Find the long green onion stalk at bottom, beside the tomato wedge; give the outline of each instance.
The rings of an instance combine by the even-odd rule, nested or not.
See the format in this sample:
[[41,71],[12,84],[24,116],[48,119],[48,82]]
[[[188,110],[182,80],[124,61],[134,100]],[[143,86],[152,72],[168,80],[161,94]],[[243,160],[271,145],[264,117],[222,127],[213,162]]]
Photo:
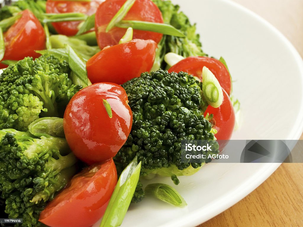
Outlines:
[[135,157],[122,171],[100,227],[117,227],[122,224],[140,176],[141,162],[138,165],[137,163],[137,157]]

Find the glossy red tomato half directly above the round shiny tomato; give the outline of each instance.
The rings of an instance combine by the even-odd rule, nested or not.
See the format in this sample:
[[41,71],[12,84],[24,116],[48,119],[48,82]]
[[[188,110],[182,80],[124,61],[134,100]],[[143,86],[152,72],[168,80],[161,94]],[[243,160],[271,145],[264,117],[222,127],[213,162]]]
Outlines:
[[105,48],[87,61],[88,78],[92,83],[123,84],[139,77],[151,70],[156,48],[155,41],[142,39]]

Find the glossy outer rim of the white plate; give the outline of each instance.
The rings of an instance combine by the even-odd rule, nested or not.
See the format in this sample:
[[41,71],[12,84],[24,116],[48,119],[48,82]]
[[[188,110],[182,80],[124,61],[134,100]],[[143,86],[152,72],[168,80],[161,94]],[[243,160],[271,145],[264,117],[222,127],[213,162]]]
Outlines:
[[[277,28],[275,28],[271,23],[269,23],[267,20],[262,18],[257,13],[251,11],[250,9],[244,7],[243,5],[240,5],[237,2],[233,2],[231,0],[218,0],[219,2],[224,2],[232,7],[237,8],[240,11],[245,12],[250,17],[256,19],[259,23],[265,25],[268,29],[270,29],[275,35],[283,41],[283,43],[288,47],[288,50],[291,52],[291,54],[294,56],[294,59],[296,60],[296,64],[298,65],[301,74],[301,84],[303,87],[303,60],[301,58],[301,55],[298,53],[297,49],[294,47],[294,45],[279,31]],[[303,97],[303,90],[301,92],[301,97]],[[300,105],[303,107],[303,98],[301,100]],[[303,116],[303,109],[301,108],[301,111],[299,111],[298,116]],[[303,117],[298,117],[294,123],[294,127],[291,130],[291,133],[287,136],[287,140],[298,140],[303,132]],[[242,163],[245,164],[245,163]],[[250,164],[250,163],[247,163]],[[281,165],[281,163],[262,163],[262,168],[259,169],[258,172],[255,172],[255,174],[251,175],[248,179],[246,179],[243,183],[241,183],[240,187],[238,187],[236,192],[241,192],[236,194],[236,192],[229,192],[227,194],[224,194],[224,198],[229,198],[228,200],[224,200],[221,196],[221,198],[218,198],[208,204],[207,206],[207,212],[204,212],[206,208],[200,208],[196,209],[195,211],[192,211],[189,214],[186,214],[178,219],[175,219],[170,222],[166,222],[165,224],[158,225],[157,227],[195,227],[197,225],[201,225],[202,223],[208,221],[209,219],[215,217],[216,215],[220,214],[221,212],[224,212],[226,209],[230,208],[231,206],[235,205],[237,202],[239,202],[241,199],[246,197],[248,194],[250,194],[253,190],[255,190],[258,186],[260,186],[266,179],[268,179],[269,176],[271,176],[272,173],[275,172],[276,169]],[[249,187],[247,187],[249,185]],[[214,209],[209,209],[209,207],[214,207]]]

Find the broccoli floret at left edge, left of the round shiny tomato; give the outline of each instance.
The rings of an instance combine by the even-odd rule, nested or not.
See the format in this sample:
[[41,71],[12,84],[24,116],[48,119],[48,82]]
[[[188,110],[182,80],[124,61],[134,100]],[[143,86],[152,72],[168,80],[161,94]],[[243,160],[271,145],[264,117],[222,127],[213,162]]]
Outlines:
[[81,89],[68,77],[66,61],[54,56],[24,58],[0,76],[0,129],[26,131],[34,120],[58,117]]

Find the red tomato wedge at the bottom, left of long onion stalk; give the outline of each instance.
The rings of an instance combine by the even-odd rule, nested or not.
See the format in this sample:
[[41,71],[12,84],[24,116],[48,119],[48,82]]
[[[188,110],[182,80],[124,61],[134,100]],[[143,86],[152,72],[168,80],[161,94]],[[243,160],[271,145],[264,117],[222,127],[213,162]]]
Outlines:
[[103,216],[116,184],[112,159],[89,166],[48,203],[39,221],[51,227],[92,226]]

